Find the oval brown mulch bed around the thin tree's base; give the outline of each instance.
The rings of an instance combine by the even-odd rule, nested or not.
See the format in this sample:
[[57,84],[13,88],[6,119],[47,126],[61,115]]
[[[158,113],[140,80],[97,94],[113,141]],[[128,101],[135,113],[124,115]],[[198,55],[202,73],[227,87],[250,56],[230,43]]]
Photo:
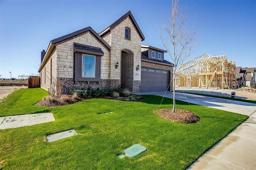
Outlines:
[[172,112],[172,109],[159,109],[156,114],[171,122],[197,123],[200,120],[194,113],[182,109],[176,109],[175,113]]

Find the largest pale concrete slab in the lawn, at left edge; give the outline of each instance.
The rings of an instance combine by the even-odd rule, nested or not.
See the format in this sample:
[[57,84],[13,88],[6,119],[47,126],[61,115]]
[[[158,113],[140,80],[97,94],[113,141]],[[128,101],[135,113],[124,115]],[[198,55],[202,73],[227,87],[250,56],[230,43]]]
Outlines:
[[20,128],[55,121],[51,113],[6,116],[0,118],[0,130]]

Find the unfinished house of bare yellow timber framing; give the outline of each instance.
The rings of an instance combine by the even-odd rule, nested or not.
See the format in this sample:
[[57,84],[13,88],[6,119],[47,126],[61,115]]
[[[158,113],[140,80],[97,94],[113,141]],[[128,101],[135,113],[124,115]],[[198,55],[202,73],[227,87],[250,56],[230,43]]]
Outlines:
[[227,55],[204,54],[181,65],[177,70],[176,87],[236,88],[236,64]]

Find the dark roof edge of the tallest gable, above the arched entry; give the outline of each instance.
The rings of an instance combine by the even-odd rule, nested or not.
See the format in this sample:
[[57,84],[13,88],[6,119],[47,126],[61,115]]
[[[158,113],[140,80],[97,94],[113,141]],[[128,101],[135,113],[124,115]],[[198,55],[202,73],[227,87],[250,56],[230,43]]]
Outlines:
[[138,25],[138,23],[135,21],[131,11],[128,11],[126,14],[124,14],[123,16],[121,16],[121,18],[119,18],[118,20],[116,20],[113,24],[109,25],[109,27],[107,27],[105,30],[101,31],[99,33],[99,35],[102,37],[104,36],[106,33],[108,33],[111,29],[115,28],[116,25],[118,25],[122,20],[124,20],[127,16],[129,16],[135,26],[135,29],[137,29],[140,37],[141,37],[141,41],[145,40],[145,37],[142,33],[142,31],[140,30],[140,27]]

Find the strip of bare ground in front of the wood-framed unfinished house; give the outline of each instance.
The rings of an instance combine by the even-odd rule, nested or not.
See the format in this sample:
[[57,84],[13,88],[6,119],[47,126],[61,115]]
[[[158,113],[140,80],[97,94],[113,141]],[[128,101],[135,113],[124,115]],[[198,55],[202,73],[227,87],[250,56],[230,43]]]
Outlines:
[[255,92],[237,91],[236,89],[199,89],[199,88],[176,88],[180,92],[193,92],[196,94],[215,95],[223,97],[231,97],[231,92],[236,92],[236,98],[256,100]]

